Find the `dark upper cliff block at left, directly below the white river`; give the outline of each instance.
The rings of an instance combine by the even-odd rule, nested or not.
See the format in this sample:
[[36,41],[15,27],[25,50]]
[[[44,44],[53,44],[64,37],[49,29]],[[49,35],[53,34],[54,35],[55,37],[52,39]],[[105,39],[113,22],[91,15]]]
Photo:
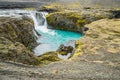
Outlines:
[[20,42],[29,49],[37,44],[33,30],[33,21],[27,17],[0,18],[0,37],[5,37],[12,42]]

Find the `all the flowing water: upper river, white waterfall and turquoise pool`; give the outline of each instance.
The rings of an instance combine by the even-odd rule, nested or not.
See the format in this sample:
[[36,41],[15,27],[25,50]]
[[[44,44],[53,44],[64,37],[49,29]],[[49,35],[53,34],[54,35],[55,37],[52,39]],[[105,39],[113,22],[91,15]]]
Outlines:
[[33,19],[34,27],[37,33],[40,34],[37,37],[39,45],[34,48],[35,55],[41,55],[48,51],[56,51],[61,44],[74,46],[73,40],[79,39],[82,35],[80,33],[53,30],[48,29],[46,12],[38,12],[32,10],[0,10],[0,16],[2,17],[21,17],[28,16]]

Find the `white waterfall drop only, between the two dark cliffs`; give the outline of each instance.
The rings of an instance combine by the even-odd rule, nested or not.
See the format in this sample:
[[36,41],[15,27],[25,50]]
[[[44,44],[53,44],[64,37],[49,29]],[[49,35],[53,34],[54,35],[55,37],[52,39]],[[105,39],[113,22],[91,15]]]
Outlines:
[[35,29],[37,31],[41,31],[42,33],[47,33],[50,35],[54,35],[54,30],[48,29],[48,24],[46,20],[47,12],[36,12],[34,15],[32,15],[34,23],[35,23]]

